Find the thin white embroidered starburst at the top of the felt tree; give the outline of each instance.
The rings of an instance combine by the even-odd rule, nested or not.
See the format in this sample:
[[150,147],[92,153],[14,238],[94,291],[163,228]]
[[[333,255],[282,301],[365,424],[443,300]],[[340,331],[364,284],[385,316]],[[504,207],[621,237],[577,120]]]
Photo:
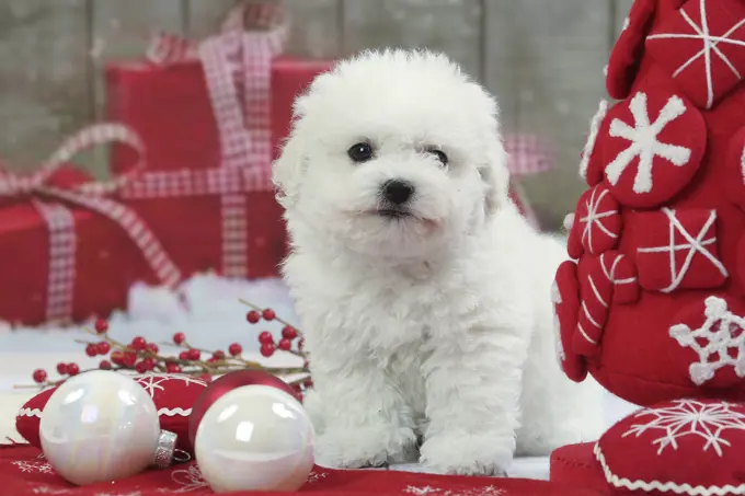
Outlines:
[[740,30],[743,24],[745,24],[745,19],[738,20],[721,36],[712,36],[709,28],[707,0],[699,0],[699,11],[701,13],[701,25],[696,24],[696,22],[690,19],[690,15],[688,15],[685,10],[680,10],[683,19],[686,21],[686,24],[690,26],[692,33],[660,33],[650,35],[646,37],[646,39],[699,39],[701,42],[701,49],[694,54],[694,56],[688,60],[683,62],[680,67],[678,67],[675,72],[673,72],[673,78],[678,77],[683,71],[691,67],[699,58],[703,58],[704,79],[707,85],[707,108],[711,108],[711,106],[714,104],[714,78],[712,69],[712,60],[714,57],[722,61],[724,66],[726,66],[730,71],[732,71],[735,78],[738,80],[743,79],[743,76],[740,73],[740,71],[737,71],[730,58],[724,55],[718,45],[721,43],[723,45],[745,47],[745,42],[730,37],[737,30]]

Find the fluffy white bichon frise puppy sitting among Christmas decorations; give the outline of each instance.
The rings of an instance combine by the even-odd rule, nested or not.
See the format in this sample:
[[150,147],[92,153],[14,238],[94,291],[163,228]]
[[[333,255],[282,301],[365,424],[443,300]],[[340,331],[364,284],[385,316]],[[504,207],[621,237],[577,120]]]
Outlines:
[[274,164],[319,431],[333,466],[502,474],[603,429],[554,354],[564,249],[508,200],[495,101],[429,51],[367,51],[295,103]]

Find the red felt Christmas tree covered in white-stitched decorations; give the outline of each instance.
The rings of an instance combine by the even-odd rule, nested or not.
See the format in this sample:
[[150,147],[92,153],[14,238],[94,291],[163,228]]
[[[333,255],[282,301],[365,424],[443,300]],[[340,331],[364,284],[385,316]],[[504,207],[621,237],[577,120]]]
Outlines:
[[[637,0],[610,58],[609,92],[626,100],[598,126],[593,154],[605,169],[592,186],[610,192],[620,222],[615,212],[598,217],[614,210],[608,201],[595,214],[578,205],[570,254],[578,256],[580,279],[562,266],[558,284],[572,302],[597,304],[557,309],[562,337],[582,333],[587,311],[600,312],[592,314],[599,324],[594,353],[562,338],[572,357],[568,376],[582,377],[586,366],[605,388],[640,405],[745,400],[745,369],[737,365],[745,360],[745,83],[733,80],[745,74],[744,16],[745,4],[735,0]],[[711,53],[699,33],[707,30],[715,37]],[[607,300],[589,280],[597,270],[583,269],[603,255],[623,256],[626,276],[614,279],[637,277],[639,287],[624,288],[620,300]]]

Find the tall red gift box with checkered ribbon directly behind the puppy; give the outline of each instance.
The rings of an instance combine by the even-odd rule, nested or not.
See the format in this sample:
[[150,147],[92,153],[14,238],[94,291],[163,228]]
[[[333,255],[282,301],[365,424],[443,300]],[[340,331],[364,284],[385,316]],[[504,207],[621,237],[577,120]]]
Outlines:
[[[286,234],[271,183],[270,72],[285,37],[277,5],[241,4],[215,36],[161,35],[147,62],[106,68],[110,118],[136,129],[148,150],[148,171],[121,198],[184,276],[278,273]],[[115,174],[127,172],[129,153],[113,148]]]

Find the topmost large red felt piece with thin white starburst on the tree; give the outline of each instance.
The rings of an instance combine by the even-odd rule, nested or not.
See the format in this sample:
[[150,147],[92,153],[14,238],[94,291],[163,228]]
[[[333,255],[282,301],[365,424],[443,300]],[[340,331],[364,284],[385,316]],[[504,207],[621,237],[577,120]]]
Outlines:
[[713,107],[745,74],[745,3],[689,0],[646,37],[646,50],[700,108]]

